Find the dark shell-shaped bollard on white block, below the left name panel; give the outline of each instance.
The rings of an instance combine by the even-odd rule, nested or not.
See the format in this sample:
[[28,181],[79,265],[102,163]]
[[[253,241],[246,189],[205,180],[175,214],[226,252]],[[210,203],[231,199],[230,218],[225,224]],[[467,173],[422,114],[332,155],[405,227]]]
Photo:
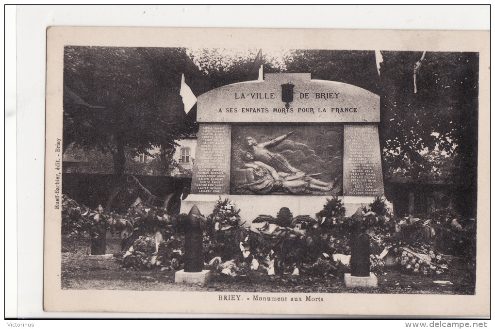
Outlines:
[[203,270],[203,232],[200,217],[201,212],[193,205],[184,225],[184,270],[175,272],[175,282],[204,283],[209,280],[210,271]]

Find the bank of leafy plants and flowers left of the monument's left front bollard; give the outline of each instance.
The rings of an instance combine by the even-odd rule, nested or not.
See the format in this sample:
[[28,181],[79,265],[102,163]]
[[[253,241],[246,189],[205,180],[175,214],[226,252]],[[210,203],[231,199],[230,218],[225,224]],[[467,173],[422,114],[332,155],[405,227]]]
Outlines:
[[[117,215],[103,210],[81,207],[66,195],[62,196],[62,232],[83,230],[91,232],[93,237],[107,230],[118,233],[122,239],[122,249],[129,250],[123,258],[123,266],[134,269],[177,270],[182,266],[183,238],[179,234],[178,223],[181,216],[169,216],[161,207],[155,207],[138,199],[128,212]],[[71,231],[72,230],[72,231]]]

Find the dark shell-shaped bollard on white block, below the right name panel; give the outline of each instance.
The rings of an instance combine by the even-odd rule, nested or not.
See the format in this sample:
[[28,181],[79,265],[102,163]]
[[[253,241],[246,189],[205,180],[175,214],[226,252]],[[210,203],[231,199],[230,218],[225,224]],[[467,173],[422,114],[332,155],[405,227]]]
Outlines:
[[376,287],[377,277],[370,272],[370,237],[364,233],[360,222],[350,240],[350,274],[346,273],[344,282],[348,287]]

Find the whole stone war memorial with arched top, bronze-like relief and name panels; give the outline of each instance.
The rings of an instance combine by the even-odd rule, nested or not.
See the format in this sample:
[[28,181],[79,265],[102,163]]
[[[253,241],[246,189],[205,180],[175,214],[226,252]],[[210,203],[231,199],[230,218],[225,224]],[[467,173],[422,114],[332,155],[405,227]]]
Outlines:
[[309,73],[265,74],[198,96],[198,147],[181,212],[233,200],[250,223],[288,207],[320,211],[339,196],[346,216],[384,196],[380,96]]

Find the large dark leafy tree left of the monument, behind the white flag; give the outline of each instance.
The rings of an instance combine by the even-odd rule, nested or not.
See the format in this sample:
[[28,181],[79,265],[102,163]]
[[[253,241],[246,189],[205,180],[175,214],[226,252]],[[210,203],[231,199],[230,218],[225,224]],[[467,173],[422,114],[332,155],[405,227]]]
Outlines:
[[182,48],[65,47],[64,150],[74,142],[109,152],[114,174],[122,176],[126,155],[173,149],[180,135],[197,130],[179,95],[182,73],[195,94],[203,92],[201,74]]

